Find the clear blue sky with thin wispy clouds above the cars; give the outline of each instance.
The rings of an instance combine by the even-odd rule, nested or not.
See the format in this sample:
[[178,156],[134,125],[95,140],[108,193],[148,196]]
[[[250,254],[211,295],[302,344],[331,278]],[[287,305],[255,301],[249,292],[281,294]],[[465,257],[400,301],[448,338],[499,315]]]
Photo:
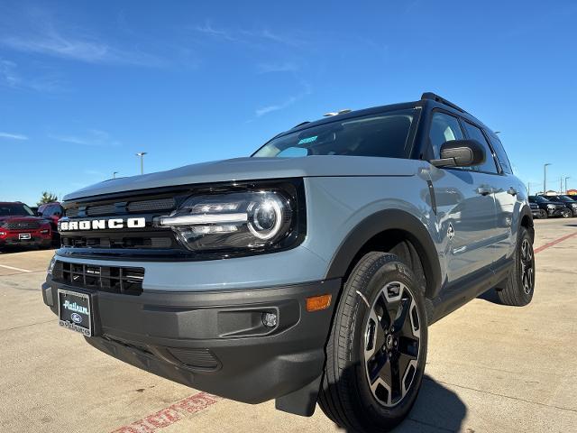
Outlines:
[[0,4],[0,199],[250,154],[327,111],[434,91],[518,176],[577,187],[577,4]]

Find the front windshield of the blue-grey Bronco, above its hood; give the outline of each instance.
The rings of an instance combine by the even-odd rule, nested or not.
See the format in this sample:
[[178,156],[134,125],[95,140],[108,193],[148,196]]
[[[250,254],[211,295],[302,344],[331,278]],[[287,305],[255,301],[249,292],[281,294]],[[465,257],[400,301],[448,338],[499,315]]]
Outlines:
[[311,155],[407,158],[407,139],[415,110],[365,115],[282,135],[253,157],[295,158]]

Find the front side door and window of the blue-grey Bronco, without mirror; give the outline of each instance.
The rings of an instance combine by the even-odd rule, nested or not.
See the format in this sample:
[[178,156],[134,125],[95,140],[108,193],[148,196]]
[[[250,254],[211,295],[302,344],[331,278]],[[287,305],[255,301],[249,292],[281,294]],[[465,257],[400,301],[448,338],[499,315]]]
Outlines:
[[[456,116],[435,110],[429,128],[431,153],[439,158],[441,144],[465,138]],[[491,154],[489,154],[489,157]],[[494,161],[493,161],[494,165]],[[490,269],[494,259],[496,209],[496,166],[487,168],[431,168],[435,189],[437,224],[444,234],[444,254],[449,283],[483,268]],[[446,234],[446,235],[445,235]]]

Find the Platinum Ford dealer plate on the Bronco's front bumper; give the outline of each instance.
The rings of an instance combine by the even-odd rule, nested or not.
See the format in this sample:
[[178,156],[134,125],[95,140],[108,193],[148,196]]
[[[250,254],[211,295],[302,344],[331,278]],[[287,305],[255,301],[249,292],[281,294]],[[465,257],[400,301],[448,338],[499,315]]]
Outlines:
[[58,290],[59,325],[84,336],[94,336],[93,301],[89,293]]

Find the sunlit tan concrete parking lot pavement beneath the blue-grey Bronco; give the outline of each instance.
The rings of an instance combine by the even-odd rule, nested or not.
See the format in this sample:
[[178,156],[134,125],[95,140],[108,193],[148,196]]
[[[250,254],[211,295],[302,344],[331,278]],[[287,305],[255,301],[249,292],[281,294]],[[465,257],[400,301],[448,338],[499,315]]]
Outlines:
[[[426,380],[398,431],[574,431],[577,218],[536,221],[528,307],[491,293],[430,328]],[[51,251],[0,254],[0,431],[339,431],[219,399],[101,354],[58,326],[40,286]]]

